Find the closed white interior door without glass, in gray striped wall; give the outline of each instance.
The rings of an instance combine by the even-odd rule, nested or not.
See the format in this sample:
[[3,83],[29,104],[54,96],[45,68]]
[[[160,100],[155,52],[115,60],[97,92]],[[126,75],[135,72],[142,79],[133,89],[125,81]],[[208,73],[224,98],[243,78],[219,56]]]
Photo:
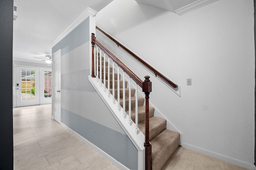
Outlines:
[[60,50],[54,56],[54,119],[60,123]]

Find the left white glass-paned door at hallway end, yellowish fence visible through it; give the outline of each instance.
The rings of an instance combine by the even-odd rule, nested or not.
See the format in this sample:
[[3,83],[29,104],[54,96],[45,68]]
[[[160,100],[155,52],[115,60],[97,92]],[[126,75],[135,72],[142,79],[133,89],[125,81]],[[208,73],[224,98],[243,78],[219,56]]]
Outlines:
[[16,66],[16,107],[40,104],[39,68]]

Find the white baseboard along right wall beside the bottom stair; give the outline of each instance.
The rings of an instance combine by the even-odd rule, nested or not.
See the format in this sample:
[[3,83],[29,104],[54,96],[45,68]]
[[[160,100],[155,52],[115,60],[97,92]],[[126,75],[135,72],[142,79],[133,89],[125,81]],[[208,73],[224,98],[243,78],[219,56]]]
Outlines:
[[220,160],[224,160],[225,162],[229,162],[231,164],[234,164],[234,165],[237,165],[237,166],[241,166],[241,167],[249,169],[249,170],[256,170],[256,166],[254,164],[249,164],[249,163],[243,162],[241,160],[230,158],[228,156],[225,156],[225,155],[222,155],[222,154],[218,154],[218,153],[212,152],[210,150],[206,150],[206,149],[202,149],[202,148],[199,148],[199,147],[195,147],[195,146],[187,144],[187,143],[182,143],[182,147],[187,148],[187,149],[195,150],[196,152],[200,152],[202,154],[206,154],[208,156],[212,156],[214,158],[217,158],[217,159],[220,159]]

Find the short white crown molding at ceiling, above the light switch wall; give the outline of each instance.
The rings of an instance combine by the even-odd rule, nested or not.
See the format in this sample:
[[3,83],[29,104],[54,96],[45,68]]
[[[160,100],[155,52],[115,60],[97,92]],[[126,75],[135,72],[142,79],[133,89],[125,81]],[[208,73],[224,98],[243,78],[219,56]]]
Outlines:
[[215,2],[215,1],[217,1],[217,0],[198,0],[198,1],[188,4],[182,8],[179,8],[178,10],[175,10],[174,12],[176,14],[178,14],[179,16],[181,16],[183,14],[186,14],[188,12],[191,12],[193,10],[201,8],[202,6],[211,4],[212,2]]

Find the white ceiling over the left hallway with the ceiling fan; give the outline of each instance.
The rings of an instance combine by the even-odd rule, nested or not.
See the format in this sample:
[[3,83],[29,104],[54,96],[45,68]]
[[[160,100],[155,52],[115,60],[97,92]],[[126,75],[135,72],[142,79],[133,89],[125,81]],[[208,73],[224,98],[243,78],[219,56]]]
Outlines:
[[[14,0],[13,59],[42,62],[52,43],[87,8],[99,12],[112,0]],[[38,58],[34,58],[38,57]]]

